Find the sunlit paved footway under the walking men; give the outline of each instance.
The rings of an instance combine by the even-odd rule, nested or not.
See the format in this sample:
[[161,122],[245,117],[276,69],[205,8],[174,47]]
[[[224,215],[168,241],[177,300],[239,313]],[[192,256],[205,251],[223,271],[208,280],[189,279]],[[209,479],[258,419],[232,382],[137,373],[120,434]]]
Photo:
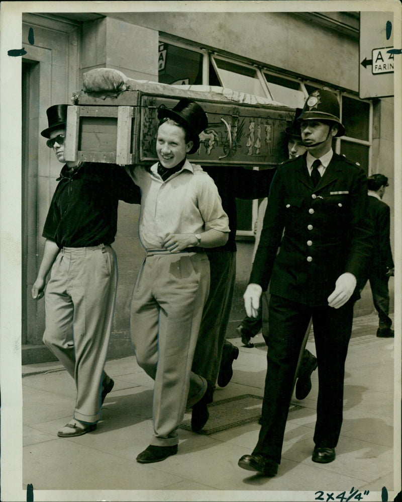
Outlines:
[[[301,407],[289,412],[282,461],[272,478],[237,465],[257,442],[257,421],[214,434],[179,429],[176,455],[154,464],[136,462],[152,436],[153,381],[132,355],[107,361],[115,386],[105,399],[103,420],[95,431],[70,439],[58,438],[57,431],[72,416],[73,380],[58,362],[24,365],[23,489],[32,483],[36,501],[393,500],[400,491],[400,472],[394,468],[394,340],[376,338],[376,328],[374,314],[354,319],[336,460],[311,460],[318,394],[314,371],[308,397],[292,397]],[[263,395],[261,334],[252,349],[240,339],[231,342],[240,354],[232,380],[217,387],[214,402]],[[313,333],[307,349],[315,354]],[[218,406],[210,410],[212,417]],[[400,445],[395,451],[399,458]]]

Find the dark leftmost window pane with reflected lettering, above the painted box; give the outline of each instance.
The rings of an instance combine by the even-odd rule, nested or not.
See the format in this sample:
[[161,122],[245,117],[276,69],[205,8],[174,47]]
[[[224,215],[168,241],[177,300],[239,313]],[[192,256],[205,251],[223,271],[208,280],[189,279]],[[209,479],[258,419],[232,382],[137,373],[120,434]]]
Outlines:
[[159,44],[158,79],[175,85],[203,83],[203,54],[168,43]]

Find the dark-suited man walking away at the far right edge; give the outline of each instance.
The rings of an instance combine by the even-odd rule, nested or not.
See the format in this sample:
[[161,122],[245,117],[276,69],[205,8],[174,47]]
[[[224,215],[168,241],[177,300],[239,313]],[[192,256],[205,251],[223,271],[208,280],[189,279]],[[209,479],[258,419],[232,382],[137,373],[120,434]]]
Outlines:
[[[391,329],[392,320],[389,317],[389,277],[394,274],[391,243],[389,240],[390,210],[389,206],[381,199],[385,188],[388,186],[388,178],[382,174],[375,174],[367,179],[368,206],[367,211],[373,223],[374,235],[373,254],[368,269],[374,307],[378,312],[378,338],[393,338],[394,331]],[[366,281],[365,281],[366,282]],[[362,285],[364,287],[364,284]]]

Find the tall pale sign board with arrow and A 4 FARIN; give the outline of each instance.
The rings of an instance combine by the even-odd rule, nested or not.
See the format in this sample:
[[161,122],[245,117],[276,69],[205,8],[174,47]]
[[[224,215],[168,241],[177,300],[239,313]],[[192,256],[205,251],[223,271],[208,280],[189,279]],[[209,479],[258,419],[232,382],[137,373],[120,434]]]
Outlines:
[[393,13],[360,12],[359,96],[393,96]]

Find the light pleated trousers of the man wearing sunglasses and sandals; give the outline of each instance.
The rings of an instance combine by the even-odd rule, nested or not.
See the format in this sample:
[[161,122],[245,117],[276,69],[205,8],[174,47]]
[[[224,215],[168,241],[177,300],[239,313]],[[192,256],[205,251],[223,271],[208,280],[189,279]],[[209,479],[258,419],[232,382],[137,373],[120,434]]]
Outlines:
[[116,254],[103,244],[61,249],[46,286],[43,342],[74,378],[74,418],[88,424],[102,417],[116,287]]

